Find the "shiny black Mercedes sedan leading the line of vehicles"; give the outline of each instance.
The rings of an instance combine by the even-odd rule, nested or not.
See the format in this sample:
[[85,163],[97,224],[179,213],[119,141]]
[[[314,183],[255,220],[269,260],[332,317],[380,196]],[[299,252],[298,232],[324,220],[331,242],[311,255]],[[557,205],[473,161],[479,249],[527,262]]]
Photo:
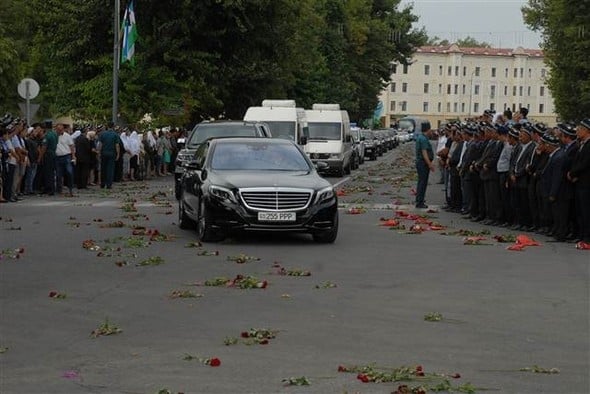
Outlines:
[[[199,146],[181,179],[179,225],[199,240],[236,230],[305,232],[332,243],[338,200],[297,144],[284,139],[222,138]],[[322,163],[318,163],[321,166]]]

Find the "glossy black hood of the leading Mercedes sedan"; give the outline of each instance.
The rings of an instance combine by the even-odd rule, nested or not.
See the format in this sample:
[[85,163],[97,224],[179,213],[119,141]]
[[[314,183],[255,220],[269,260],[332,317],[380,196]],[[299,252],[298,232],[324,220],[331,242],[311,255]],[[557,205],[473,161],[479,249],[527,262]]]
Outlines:
[[246,187],[293,187],[303,189],[323,189],[330,182],[315,172],[284,171],[211,171],[211,184],[228,188]]

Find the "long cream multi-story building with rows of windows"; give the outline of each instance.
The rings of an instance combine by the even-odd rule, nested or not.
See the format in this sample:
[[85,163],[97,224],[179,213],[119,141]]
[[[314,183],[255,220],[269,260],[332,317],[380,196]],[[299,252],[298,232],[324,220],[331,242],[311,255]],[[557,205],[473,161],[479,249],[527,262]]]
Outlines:
[[548,67],[538,49],[420,47],[410,66],[392,64],[391,80],[380,96],[382,122],[403,116],[441,122],[481,115],[491,109],[529,110],[528,118],[554,124]]

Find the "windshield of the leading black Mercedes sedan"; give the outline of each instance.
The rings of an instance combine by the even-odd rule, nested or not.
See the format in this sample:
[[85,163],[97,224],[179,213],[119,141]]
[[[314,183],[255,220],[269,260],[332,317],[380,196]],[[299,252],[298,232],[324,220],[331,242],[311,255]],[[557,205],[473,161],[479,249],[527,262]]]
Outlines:
[[217,144],[214,170],[309,171],[305,156],[291,144],[229,142]]

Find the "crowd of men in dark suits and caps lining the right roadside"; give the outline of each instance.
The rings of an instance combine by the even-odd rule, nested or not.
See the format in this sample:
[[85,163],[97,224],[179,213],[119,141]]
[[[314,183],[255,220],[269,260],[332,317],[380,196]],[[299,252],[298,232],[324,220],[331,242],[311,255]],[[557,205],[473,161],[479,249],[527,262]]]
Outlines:
[[[526,108],[514,116],[486,111],[438,134],[436,152],[417,146],[416,153],[419,178],[420,170],[434,171],[436,154],[443,209],[559,242],[590,242],[590,118],[548,127],[528,121]],[[425,207],[423,197],[416,204]]]

